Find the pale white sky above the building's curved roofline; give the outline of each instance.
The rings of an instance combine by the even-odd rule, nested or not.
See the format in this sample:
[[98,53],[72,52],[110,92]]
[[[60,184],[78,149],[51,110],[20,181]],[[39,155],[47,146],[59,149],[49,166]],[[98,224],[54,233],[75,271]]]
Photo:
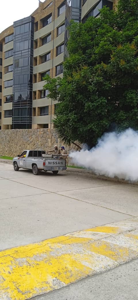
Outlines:
[[[44,2],[44,0],[41,0]],[[14,21],[30,16],[39,6],[39,0],[0,0],[0,33]]]

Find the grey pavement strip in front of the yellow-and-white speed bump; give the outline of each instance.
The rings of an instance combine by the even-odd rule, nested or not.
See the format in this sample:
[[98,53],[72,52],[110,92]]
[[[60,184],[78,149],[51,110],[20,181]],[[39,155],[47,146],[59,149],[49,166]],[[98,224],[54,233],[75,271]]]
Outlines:
[[137,300],[138,259],[32,300]]

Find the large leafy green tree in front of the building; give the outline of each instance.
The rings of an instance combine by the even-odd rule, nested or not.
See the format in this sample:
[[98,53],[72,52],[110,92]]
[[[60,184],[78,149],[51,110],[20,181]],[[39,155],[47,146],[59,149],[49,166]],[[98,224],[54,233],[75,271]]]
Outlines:
[[48,97],[59,101],[53,122],[67,144],[92,147],[112,124],[138,130],[138,0],[100,13],[71,23],[63,79],[45,77]]

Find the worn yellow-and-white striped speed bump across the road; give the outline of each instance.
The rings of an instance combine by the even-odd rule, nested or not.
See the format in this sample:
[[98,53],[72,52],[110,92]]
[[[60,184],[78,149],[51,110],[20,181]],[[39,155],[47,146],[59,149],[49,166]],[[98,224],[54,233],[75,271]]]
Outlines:
[[138,257],[138,218],[0,252],[0,300],[25,300]]

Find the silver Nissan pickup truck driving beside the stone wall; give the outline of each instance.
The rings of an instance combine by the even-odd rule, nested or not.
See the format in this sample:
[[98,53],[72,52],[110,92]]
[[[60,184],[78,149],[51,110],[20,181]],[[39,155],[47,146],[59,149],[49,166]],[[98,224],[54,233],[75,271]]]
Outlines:
[[33,170],[34,175],[39,175],[39,171],[42,170],[57,174],[67,169],[66,161],[60,158],[60,155],[47,155],[43,150],[25,150],[21,155],[13,158],[13,166],[15,171],[19,171],[20,168]]

